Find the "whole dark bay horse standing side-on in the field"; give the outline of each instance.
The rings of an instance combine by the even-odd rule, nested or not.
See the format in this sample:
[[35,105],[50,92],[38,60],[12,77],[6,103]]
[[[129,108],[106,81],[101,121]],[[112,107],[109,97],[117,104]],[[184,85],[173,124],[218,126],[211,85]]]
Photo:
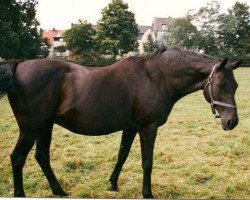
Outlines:
[[11,154],[14,196],[25,196],[23,166],[36,143],[35,158],[53,194],[66,196],[50,166],[53,124],[74,133],[96,136],[123,130],[118,161],[110,177],[116,191],[122,166],[136,133],[142,153],[145,198],[153,198],[151,172],[157,129],[182,97],[204,90],[222,128],[238,124],[237,82],[228,63],[179,48],[160,49],[147,56],[129,57],[111,66],[88,69],[57,60],[29,60],[0,66],[0,93],[7,93],[20,135]]

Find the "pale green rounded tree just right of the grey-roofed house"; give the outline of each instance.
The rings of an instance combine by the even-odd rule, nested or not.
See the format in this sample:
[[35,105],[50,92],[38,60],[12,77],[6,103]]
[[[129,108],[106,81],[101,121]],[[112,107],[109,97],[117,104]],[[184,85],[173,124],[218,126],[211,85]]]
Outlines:
[[169,25],[166,40],[170,46],[181,46],[189,49],[197,49],[199,33],[192,24],[190,17],[176,19]]

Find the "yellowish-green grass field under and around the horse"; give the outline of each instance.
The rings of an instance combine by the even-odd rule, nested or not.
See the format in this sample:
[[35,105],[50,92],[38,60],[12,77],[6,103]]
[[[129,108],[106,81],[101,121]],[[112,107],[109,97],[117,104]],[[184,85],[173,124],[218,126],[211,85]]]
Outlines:
[[[202,92],[179,101],[159,128],[154,153],[152,189],[157,198],[250,199],[250,68],[235,71],[239,125],[225,132],[214,119]],[[0,197],[13,196],[9,155],[18,127],[7,98],[0,100]],[[120,133],[87,137],[55,126],[51,164],[70,197],[141,198],[142,169],[138,136],[119,179],[119,192],[109,192]],[[28,197],[53,197],[34,159],[24,167]]]

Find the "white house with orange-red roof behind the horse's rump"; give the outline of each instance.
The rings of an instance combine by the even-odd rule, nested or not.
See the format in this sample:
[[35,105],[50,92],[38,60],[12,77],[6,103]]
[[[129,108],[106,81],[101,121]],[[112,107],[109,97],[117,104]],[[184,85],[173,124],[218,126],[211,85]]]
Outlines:
[[[66,46],[66,42],[63,41],[63,34],[65,30],[56,30],[53,28],[52,30],[42,30],[41,34],[43,38],[48,38],[50,43],[49,48],[49,57],[69,57],[69,51],[66,50],[65,52],[62,52],[57,47]],[[46,46],[42,46],[42,49],[45,49]],[[47,47],[48,48],[48,47]]]

